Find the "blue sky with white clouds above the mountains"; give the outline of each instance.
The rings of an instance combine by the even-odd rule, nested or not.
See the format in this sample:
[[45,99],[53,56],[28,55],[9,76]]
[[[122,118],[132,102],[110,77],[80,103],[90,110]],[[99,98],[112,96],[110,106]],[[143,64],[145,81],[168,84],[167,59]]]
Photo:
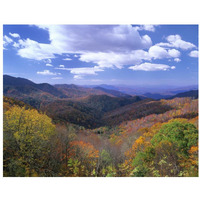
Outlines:
[[4,25],[3,74],[36,83],[198,84],[198,25]]

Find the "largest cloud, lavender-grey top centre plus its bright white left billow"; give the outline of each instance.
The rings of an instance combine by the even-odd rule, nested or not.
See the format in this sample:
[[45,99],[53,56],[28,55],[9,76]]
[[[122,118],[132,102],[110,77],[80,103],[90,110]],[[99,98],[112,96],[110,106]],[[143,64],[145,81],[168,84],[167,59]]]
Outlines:
[[39,43],[29,38],[20,39],[18,55],[43,60],[55,58],[55,54],[122,53],[148,49],[152,45],[148,35],[141,36],[131,25],[39,25],[39,27],[48,31],[50,44]]

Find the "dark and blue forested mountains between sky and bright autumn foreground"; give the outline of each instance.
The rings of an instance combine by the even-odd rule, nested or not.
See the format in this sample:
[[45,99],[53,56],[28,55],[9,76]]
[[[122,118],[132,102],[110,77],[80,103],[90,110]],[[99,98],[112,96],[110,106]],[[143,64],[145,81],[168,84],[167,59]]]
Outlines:
[[56,123],[73,123],[86,128],[117,125],[173,109],[158,100],[163,97],[198,98],[198,90],[175,95],[145,93],[136,96],[115,89],[117,87],[106,85],[90,88],[74,84],[36,84],[24,78],[3,76],[3,93],[7,102],[13,102],[9,98],[14,98],[16,102],[20,100],[45,112]]

